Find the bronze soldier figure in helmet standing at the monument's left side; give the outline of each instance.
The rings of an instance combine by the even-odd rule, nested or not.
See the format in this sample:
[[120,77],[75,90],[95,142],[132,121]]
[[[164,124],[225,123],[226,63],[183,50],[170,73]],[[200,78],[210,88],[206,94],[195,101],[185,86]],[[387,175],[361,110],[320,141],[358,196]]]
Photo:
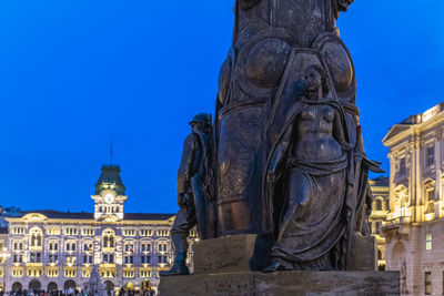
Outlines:
[[[188,275],[186,238],[192,227],[198,225],[201,238],[211,237],[214,226],[211,223],[211,116],[196,114],[192,121],[191,134],[183,144],[182,160],[178,173],[179,212],[171,227],[171,239],[175,249],[173,266],[161,272],[161,276]],[[211,227],[211,228],[210,228]]]

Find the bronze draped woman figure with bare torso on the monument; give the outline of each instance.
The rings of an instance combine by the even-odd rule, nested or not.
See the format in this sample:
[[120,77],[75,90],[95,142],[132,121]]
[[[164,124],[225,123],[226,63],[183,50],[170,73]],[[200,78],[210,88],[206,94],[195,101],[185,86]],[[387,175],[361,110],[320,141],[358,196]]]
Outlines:
[[[279,234],[266,272],[344,268],[350,152],[345,113],[329,98],[320,65],[305,70],[305,94],[290,109],[272,150],[268,187],[281,204]],[[274,191],[283,188],[279,194]],[[273,201],[276,202],[276,201]]]

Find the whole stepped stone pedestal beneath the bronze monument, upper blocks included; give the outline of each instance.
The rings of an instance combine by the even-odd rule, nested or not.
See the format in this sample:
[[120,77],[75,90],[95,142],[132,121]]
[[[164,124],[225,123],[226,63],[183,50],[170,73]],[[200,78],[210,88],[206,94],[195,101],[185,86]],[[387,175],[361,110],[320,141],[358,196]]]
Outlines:
[[400,295],[398,272],[375,272],[373,237],[356,236],[349,272],[264,274],[266,236],[234,235],[194,245],[194,274],[161,277],[160,295]]

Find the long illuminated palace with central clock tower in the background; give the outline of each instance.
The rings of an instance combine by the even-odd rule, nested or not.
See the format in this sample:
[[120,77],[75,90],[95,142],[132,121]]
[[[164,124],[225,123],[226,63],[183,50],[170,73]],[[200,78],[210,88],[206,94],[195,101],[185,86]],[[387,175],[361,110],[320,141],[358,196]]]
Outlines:
[[[125,213],[119,166],[102,167],[91,197],[93,213],[27,211],[0,216],[8,227],[0,227],[3,290],[81,290],[93,267],[109,292],[139,289],[148,282],[157,289],[159,272],[172,263],[174,215]],[[190,241],[194,238],[195,232]],[[192,251],[189,255],[192,264]]]

